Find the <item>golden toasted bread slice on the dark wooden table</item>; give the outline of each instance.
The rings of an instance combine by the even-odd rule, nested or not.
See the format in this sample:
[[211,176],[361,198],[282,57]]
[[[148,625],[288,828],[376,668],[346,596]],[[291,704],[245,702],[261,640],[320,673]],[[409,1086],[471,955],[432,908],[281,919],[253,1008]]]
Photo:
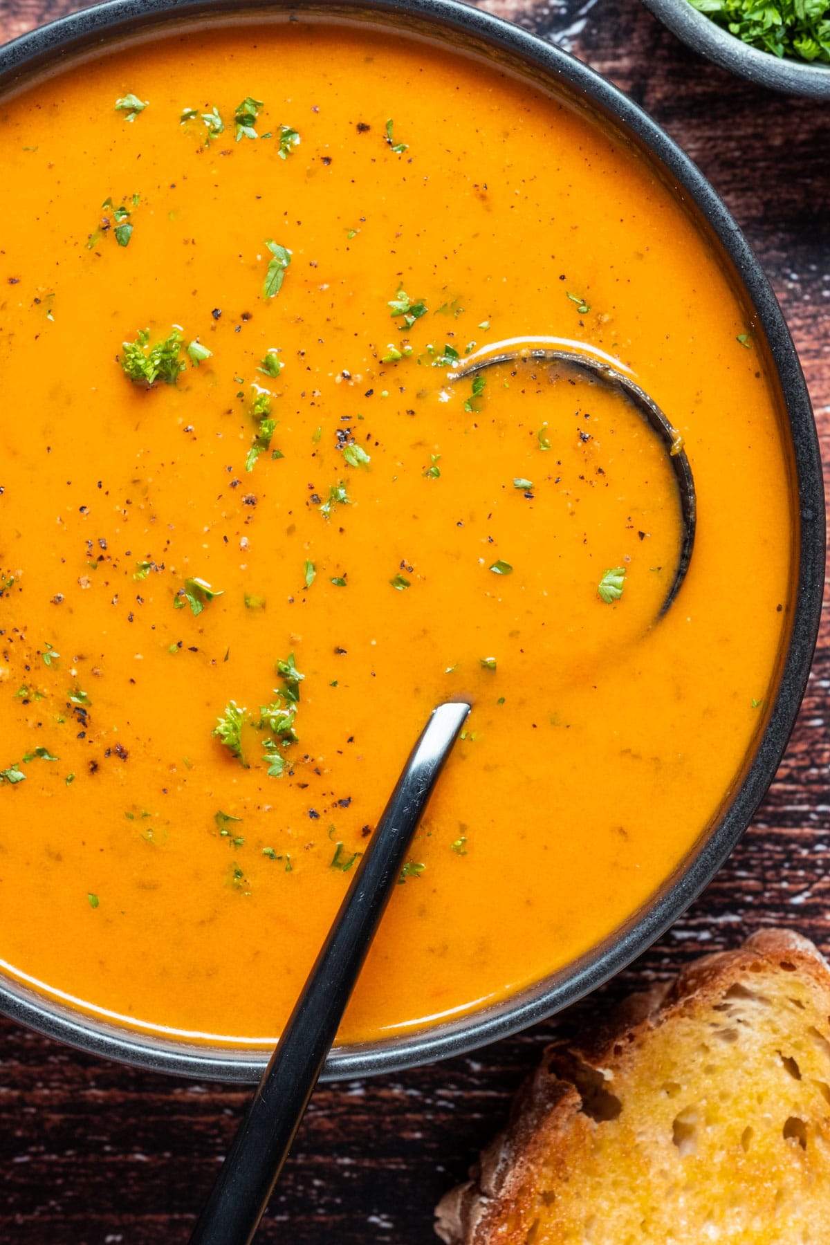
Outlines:
[[550,1047],[437,1215],[447,1245],[826,1245],[826,961],[767,930]]

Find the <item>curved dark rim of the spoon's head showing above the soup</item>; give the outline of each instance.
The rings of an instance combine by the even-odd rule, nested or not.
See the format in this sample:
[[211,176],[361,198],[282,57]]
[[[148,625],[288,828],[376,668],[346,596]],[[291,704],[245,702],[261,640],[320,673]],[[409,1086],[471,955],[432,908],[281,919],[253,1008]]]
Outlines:
[[[544,341],[545,339],[530,340]],[[511,341],[497,342],[493,346],[488,346],[485,355],[483,351],[473,355],[467,366],[459,367],[454,372],[449,372],[447,375],[447,380],[462,381],[468,376],[474,376],[475,372],[484,371],[485,367],[494,367],[497,364],[543,362],[566,364],[569,367],[581,367],[584,371],[591,372],[592,376],[599,376],[600,380],[605,381],[607,385],[612,385],[615,388],[621,390],[623,396],[628,398],[628,401],[642,416],[645,416],[646,421],[651,425],[661,443],[664,446],[668,461],[674,473],[674,483],[677,484],[683,535],[681,539],[681,552],[677,560],[677,568],[674,570],[674,578],[672,579],[668,593],[666,594],[663,604],[660,608],[660,614],[657,615],[657,618],[661,619],[681,590],[681,584],[686,579],[686,573],[689,568],[689,561],[692,560],[692,549],[694,548],[697,496],[694,492],[692,468],[689,467],[689,461],[686,457],[686,451],[683,449],[683,438],[681,433],[676,427],[673,427],[672,422],[661,411],[655,400],[650,397],[645,390],[640,388],[640,386],[635,383],[630,376],[626,376],[625,372],[620,370],[620,366],[616,365],[609,355],[604,355],[602,359],[597,359],[592,355],[581,352],[577,354],[572,350],[561,350],[551,346],[531,346],[529,342],[516,349],[515,341],[516,339],[513,339]],[[574,342],[574,345],[577,344]],[[480,357],[482,355],[484,355],[484,357]]]

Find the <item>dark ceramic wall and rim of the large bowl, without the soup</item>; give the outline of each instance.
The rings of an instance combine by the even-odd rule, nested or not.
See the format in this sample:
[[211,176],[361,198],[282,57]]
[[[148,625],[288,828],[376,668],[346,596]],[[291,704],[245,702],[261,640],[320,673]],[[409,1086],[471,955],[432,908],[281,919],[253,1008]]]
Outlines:
[[[754,306],[776,371],[789,420],[791,459],[798,476],[798,594],[789,645],[781,657],[775,702],[763,737],[747,758],[739,787],[716,824],[687,859],[638,911],[594,950],[559,972],[504,1002],[459,1020],[361,1046],[336,1048],[327,1078],[389,1072],[470,1051],[506,1037],[580,998],[635,956],[676,920],[703,890],[747,828],[772,782],[795,721],[810,670],[824,586],[824,491],[819,446],[804,377],[790,335],[758,261],[734,220],[698,169],[651,118],[604,78],[565,52],[516,26],[499,21],[455,0],[351,0],[350,4],[274,0],[269,6],[244,0],[118,0],[97,5],[25,35],[0,50],[0,93],[32,75],[91,57],[98,49],[129,39],[148,39],[172,24],[177,29],[205,21],[236,24],[244,16],[285,20],[291,12],[314,11],[329,17],[380,22],[416,30],[431,39],[465,45],[508,63],[534,82],[564,91],[616,128],[651,159],[664,182],[708,234],[737,286]],[[0,979],[0,1010],[40,1032],[86,1051],[158,1071],[224,1081],[255,1081],[265,1052],[229,1051],[146,1036],[114,1027],[34,994],[11,979]]]

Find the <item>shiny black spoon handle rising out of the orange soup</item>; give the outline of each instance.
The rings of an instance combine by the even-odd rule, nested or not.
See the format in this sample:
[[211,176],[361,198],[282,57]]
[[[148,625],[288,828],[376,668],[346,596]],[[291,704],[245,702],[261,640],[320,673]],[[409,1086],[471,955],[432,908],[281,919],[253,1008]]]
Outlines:
[[449,749],[464,701],[429,717],[263,1073],[190,1245],[249,1245],[337,1033],[366,952]]

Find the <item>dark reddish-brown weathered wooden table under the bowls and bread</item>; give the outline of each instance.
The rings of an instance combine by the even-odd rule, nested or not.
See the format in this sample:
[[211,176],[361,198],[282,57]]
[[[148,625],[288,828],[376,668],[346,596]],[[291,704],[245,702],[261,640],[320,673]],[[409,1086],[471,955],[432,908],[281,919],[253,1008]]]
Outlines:
[[[780,299],[830,462],[828,105],[773,95],[708,65],[638,0],[483,6],[611,77],[723,195]],[[0,39],[75,7],[0,0]],[[566,1017],[469,1058],[322,1088],[263,1225],[264,1245],[428,1245],[433,1204],[464,1177],[564,1025],[764,925],[796,929],[830,952],[829,687],[825,618],[801,716],[753,827],[683,920],[612,985]],[[0,1022],[0,1241],[185,1241],[246,1098],[244,1089],[101,1062]]]

